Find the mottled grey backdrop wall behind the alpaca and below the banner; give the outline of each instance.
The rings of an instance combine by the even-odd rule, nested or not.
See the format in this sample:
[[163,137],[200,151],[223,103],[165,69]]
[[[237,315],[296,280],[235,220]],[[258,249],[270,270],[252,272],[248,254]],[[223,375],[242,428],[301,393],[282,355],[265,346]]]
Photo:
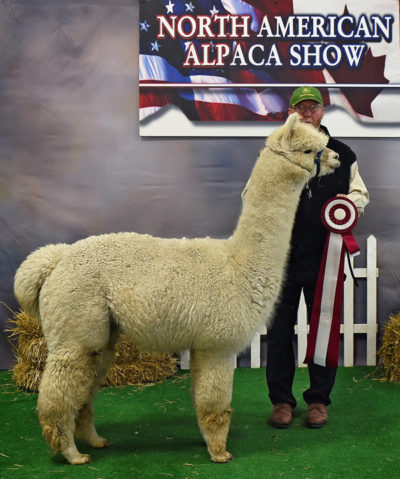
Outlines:
[[[13,362],[3,332],[13,276],[33,249],[127,230],[226,237],[235,226],[264,140],[138,136],[138,10],[137,0],[0,4],[0,368]],[[372,199],[355,234],[362,247],[378,239],[382,327],[400,309],[400,140],[345,141]]]

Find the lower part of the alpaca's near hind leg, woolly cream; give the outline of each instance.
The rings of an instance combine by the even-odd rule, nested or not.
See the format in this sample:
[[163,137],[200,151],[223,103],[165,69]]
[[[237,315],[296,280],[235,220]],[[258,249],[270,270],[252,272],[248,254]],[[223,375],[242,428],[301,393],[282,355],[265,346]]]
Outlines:
[[47,443],[71,464],[90,462],[88,454],[77,450],[74,431],[95,380],[93,355],[67,349],[49,353],[39,387],[39,421]]

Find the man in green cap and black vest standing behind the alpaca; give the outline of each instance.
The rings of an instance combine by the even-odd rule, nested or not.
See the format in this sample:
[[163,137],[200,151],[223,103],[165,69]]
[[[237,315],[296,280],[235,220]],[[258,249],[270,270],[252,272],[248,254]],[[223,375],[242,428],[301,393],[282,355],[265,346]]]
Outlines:
[[[286,282],[275,309],[275,317],[267,334],[267,384],[273,404],[271,422],[277,428],[287,428],[292,422],[296,399],[292,394],[295,373],[293,351],[294,326],[301,290],[310,320],[316,281],[327,230],[321,221],[324,203],[336,195],[350,198],[363,214],[369,203],[368,191],[358,173],[356,156],[344,143],[330,137],[321,126],[324,104],[321,93],[314,87],[294,90],[288,113],[297,112],[301,121],[323,130],[329,136],[328,148],[339,154],[341,165],[331,175],[313,178],[304,188],[293,227],[291,251],[288,258]],[[302,358],[300,358],[302,359]],[[308,365],[310,387],[303,398],[308,404],[306,425],[311,428],[325,426],[328,419],[336,369],[311,363]]]

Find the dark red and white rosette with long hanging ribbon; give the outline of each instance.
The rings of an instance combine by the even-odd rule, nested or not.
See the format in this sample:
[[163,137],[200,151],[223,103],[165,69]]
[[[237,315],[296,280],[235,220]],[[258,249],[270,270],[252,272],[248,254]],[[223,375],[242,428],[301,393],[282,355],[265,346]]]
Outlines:
[[339,357],[344,254],[346,249],[351,256],[360,253],[351,233],[358,221],[358,211],[347,197],[335,196],[324,204],[321,218],[330,233],[318,274],[304,362],[335,368]]

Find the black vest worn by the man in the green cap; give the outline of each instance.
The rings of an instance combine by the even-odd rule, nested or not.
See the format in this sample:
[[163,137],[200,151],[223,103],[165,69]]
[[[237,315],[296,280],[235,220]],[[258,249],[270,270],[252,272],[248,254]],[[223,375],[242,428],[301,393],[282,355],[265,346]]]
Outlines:
[[[329,135],[322,125],[321,130]],[[334,173],[308,182],[301,193],[293,226],[288,274],[292,270],[304,279],[318,273],[315,268],[318,270],[325,246],[328,231],[321,220],[321,209],[329,198],[349,192],[351,165],[356,161],[354,152],[341,141],[329,136],[327,146],[339,154],[340,166]]]

